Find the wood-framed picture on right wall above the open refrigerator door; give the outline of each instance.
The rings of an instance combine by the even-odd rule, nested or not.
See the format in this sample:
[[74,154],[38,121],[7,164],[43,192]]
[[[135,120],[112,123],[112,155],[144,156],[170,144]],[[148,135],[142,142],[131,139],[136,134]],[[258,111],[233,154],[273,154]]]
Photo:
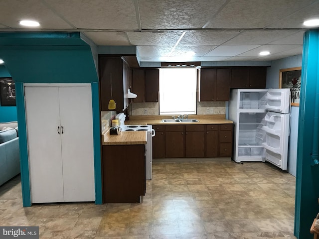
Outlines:
[[279,88],[290,88],[291,105],[299,106],[301,67],[281,69],[279,73]]

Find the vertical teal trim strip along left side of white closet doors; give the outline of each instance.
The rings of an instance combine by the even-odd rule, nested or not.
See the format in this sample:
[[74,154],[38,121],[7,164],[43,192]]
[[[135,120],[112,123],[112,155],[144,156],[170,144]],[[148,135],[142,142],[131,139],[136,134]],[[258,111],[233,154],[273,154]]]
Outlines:
[[24,88],[23,83],[15,83],[17,119],[19,126],[19,149],[20,149],[20,171],[23,207],[31,206],[31,191],[29,178],[29,160],[26,134],[26,119],[24,105]]

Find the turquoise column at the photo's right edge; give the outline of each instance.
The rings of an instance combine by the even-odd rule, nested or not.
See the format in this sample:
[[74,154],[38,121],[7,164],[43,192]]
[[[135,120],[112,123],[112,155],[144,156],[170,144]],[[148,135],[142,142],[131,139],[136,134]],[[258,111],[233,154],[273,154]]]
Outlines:
[[[319,166],[316,164],[316,141],[319,136],[319,30],[305,32],[300,94],[297,178],[295,203],[295,230],[299,239],[312,239],[309,230],[319,213]],[[318,102],[318,101],[317,101]],[[315,142],[315,143],[314,143]]]

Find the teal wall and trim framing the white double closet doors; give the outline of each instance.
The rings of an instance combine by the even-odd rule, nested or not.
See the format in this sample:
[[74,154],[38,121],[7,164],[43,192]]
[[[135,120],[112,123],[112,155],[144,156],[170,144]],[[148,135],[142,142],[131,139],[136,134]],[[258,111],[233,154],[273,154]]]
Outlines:
[[[23,206],[31,206],[24,83],[91,83],[94,148],[100,147],[98,75],[79,33],[0,33],[0,58],[16,86]],[[98,119],[98,120],[97,120]],[[94,153],[96,203],[102,203],[101,154]]]

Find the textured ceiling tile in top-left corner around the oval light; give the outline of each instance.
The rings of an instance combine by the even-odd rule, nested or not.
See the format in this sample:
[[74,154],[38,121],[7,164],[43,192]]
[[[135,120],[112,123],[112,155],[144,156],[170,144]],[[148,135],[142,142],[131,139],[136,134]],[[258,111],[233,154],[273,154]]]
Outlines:
[[19,21],[29,19],[40,22],[40,26],[36,29],[73,29],[70,24],[39,0],[0,1],[0,9],[0,23],[10,28],[23,29]]

